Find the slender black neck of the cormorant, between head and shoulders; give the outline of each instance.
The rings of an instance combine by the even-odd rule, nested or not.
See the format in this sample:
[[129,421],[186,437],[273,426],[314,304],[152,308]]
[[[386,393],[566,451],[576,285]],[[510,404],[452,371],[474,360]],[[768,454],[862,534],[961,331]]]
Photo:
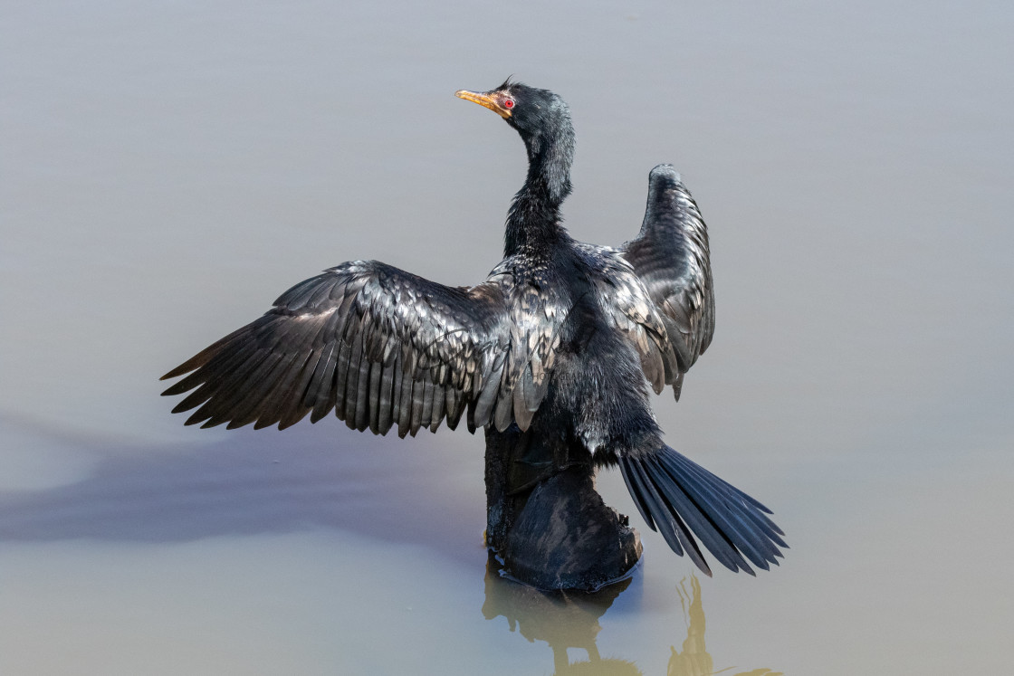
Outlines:
[[504,255],[541,256],[569,240],[560,206],[570,195],[573,141],[528,144],[528,177],[507,213]]

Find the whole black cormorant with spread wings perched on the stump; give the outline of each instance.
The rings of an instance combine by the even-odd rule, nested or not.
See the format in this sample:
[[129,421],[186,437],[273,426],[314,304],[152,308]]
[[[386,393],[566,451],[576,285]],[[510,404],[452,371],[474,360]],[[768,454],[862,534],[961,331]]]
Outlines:
[[715,323],[708,233],[679,174],[652,169],[635,239],[576,241],[560,215],[574,155],[563,99],[510,80],[456,95],[497,112],[528,153],[489,278],[447,287],[376,260],[327,270],[162,376],[190,374],[163,394],[195,390],[173,412],[284,429],[334,410],[401,437],[462,416],[473,432],[517,425],[619,464],[648,525],[706,574],[694,534],[732,571],[777,565],[787,545],[771,511],[666,446],[649,402],[665,385],[678,399]]

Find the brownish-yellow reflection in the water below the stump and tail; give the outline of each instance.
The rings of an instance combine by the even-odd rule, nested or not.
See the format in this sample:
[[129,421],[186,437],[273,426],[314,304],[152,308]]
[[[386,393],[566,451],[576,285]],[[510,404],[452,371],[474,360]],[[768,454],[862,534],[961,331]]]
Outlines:
[[[545,641],[553,649],[555,676],[596,674],[632,676],[642,674],[632,660],[601,657],[595,644],[598,623],[631,580],[623,580],[594,593],[542,592],[502,576],[502,567],[490,556],[486,568],[486,603],[483,615],[493,619],[503,615],[511,631],[519,631],[529,642]],[[715,671],[714,660],[705,645],[704,604],[697,576],[684,578],[676,589],[686,621],[682,650],[669,647],[667,676],[782,676],[782,672],[754,669],[732,673],[735,667]],[[570,662],[568,649],[587,653],[587,660]]]

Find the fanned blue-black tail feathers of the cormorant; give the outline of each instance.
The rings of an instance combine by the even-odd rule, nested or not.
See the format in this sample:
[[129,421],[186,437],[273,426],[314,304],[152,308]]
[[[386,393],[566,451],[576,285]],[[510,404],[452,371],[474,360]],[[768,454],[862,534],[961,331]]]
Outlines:
[[769,564],[778,566],[783,555],[778,547],[789,545],[765,516],[771,510],[668,446],[636,456],[620,456],[627,489],[648,526],[657,526],[673,551],[682,555],[685,550],[709,576],[694,535],[733,573],[754,575],[743,556],[765,571]]

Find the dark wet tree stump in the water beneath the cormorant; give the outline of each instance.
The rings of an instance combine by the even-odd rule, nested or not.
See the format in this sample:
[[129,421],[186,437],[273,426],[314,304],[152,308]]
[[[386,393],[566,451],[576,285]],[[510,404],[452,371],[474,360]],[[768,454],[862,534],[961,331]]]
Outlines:
[[641,556],[629,519],[595,492],[587,453],[571,450],[514,426],[486,433],[487,545],[538,589],[599,589]]

